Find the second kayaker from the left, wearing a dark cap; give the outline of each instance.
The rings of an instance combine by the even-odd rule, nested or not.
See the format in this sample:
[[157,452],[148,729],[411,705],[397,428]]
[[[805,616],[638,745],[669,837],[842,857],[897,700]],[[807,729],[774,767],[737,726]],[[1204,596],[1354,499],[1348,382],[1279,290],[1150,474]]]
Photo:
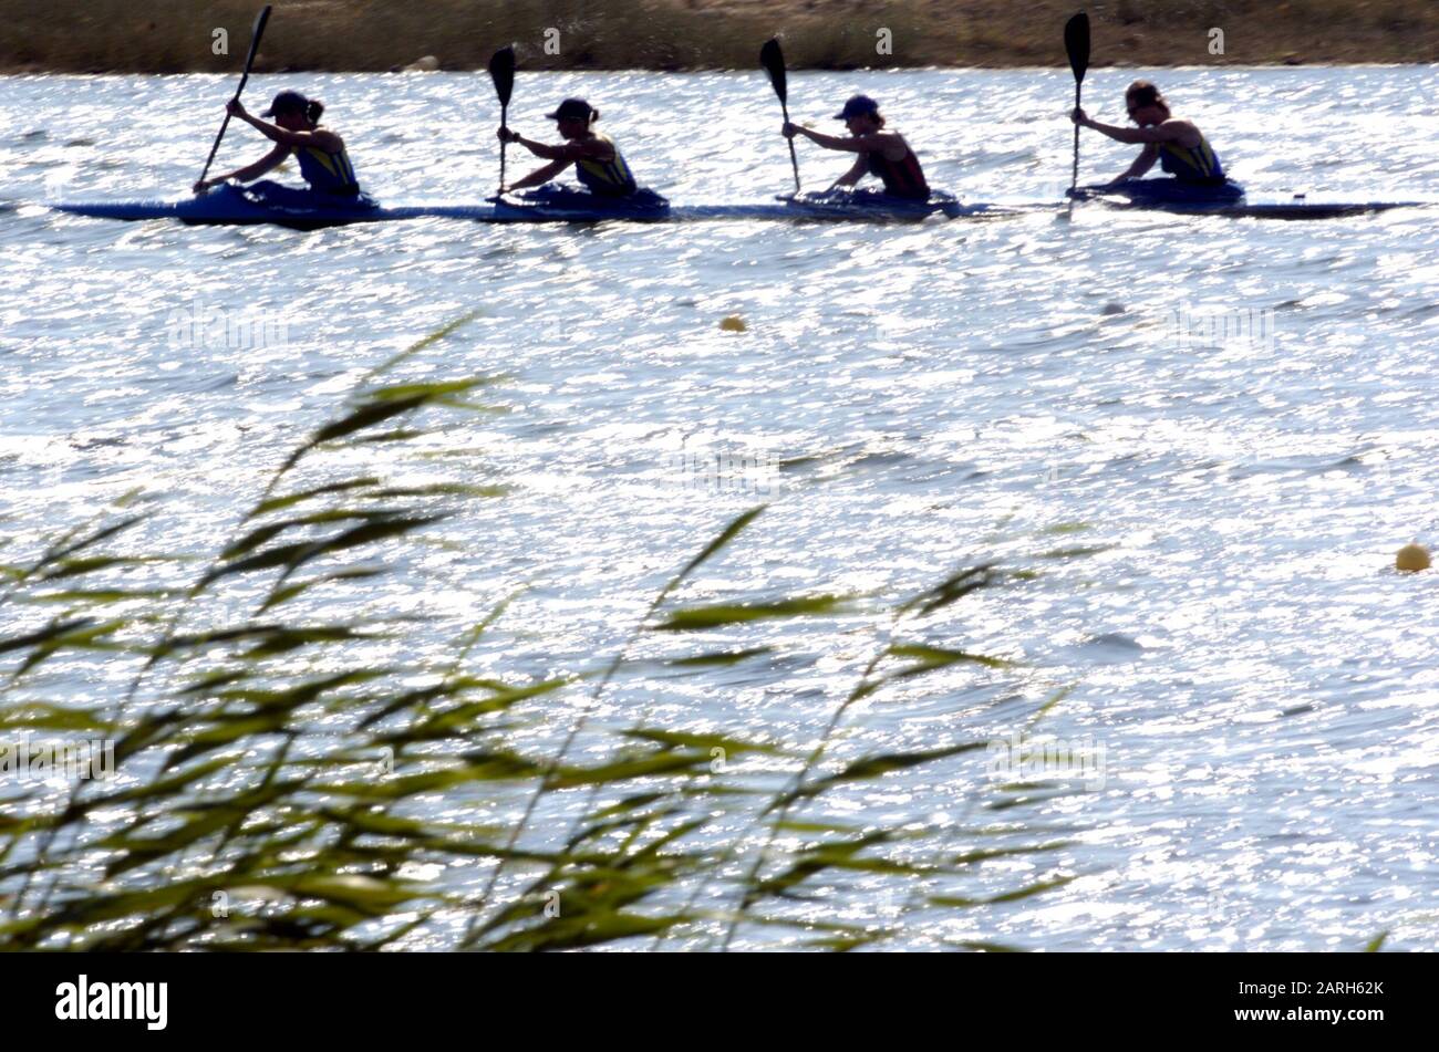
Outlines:
[[[535,157],[543,157],[550,164],[537,168],[521,180],[515,180],[508,187],[501,187],[501,194],[530,187],[543,187],[538,194],[527,197],[541,197],[554,204],[574,203],[583,206],[593,203],[596,197],[625,198],[633,201],[642,197],[656,197],[635,181],[629,164],[614,139],[594,129],[594,122],[600,119],[600,111],[594,109],[584,99],[566,99],[553,114],[545,118],[554,121],[564,142],[548,145],[527,139],[512,128],[501,128],[502,142],[518,142]],[[561,187],[550,181],[566,168],[574,165],[583,188]]]

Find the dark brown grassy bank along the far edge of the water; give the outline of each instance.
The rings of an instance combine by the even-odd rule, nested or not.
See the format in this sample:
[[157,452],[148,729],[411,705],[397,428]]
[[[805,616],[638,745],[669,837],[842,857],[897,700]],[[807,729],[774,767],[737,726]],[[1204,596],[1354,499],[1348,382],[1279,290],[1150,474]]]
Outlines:
[[[10,72],[229,72],[259,0],[0,0]],[[295,0],[271,19],[262,70],[396,70],[423,56],[482,68],[518,42],[530,69],[747,69],[783,33],[796,66],[1063,65],[1076,0]],[[1095,65],[1439,62],[1432,0],[1104,0]],[[227,55],[214,30],[226,29]],[[892,34],[876,50],[879,30]],[[1223,30],[1212,53],[1210,30]],[[557,53],[545,50],[558,30]],[[554,33],[550,34],[551,40]]]

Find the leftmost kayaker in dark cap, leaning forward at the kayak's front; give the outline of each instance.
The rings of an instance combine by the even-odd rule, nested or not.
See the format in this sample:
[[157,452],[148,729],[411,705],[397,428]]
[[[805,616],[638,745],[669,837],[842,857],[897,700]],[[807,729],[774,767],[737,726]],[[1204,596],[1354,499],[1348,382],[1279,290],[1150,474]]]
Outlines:
[[292,91],[281,92],[271,102],[271,108],[262,114],[262,116],[273,116],[273,124],[246,112],[239,99],[230,99],[226,112],[272,139],[275,148],[255,164],[196,183],[194,193],[201,194],[230,180],[252,183],[294,155],[299,161],[299,174],[304,175],[308,188],[286,187],[265,180],[246,187],[245,195],[262,204],[282,208],[340,204],[353,207],[368,203],[368,198],[360,191],[360,183],[355,180],[354,165],[350,164],[350,155],[345,152],[344,139],[328,128],[319,126],[325,105],[318,99],[307,99],[299,92]]

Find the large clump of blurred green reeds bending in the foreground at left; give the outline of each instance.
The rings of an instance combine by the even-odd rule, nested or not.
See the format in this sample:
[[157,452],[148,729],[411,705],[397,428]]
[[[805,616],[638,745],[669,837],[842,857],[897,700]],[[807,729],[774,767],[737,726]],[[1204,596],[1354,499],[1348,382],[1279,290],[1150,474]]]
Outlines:
[[[489,411],[498,382],[436,379],[466,320],[368,374],[229,536],[147,552],[135,537],[173,535],[132,494],[7,539],[0,949],[1010,949],[989,911],[1075,877],[1072,828],[1026,816],[1073,789],[997,783],[954,710],[904,749],[855,716],[963,690],[961,711],[1003,704],[1032,726],[1058,696],[1026,698],[1019,670],[945,638],[945,615],[1033,573],[966,566],[901,601],[814,582],[685,602],[712,563],[760,558],[755,507],[696,530],[613,652],[538,671],[496,671],[491,652],[478,673],[514,596],[475,596],[440,647],[403,583],[433,527],[476,503],[504,513],[504,486],[432,441]],[[406,457],[427,481],[386,479]],[[822,730],[717,724],[727,675],[809,667],[774,642],[796,621],[859,647],[850,687],[802,691]],[[597,719],[622,684],[655,701]],[[704,711],[676,704],[696,693]],[[17,776],[29,742],[109,743],[114,770]]]

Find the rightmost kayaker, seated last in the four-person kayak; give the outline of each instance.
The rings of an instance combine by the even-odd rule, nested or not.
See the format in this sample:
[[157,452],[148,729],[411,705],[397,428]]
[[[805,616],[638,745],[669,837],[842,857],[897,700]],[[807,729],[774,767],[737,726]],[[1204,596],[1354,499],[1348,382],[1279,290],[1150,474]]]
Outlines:
[[[1204,134],[1193,121],[1174,116],[1158,88],[1135,80],[1124,92],[1124,106],[1137,128],[1101,124],[1082,108],[1069,115],[1081,128],[1094,128],[1117,142],[1144,144],[1134,164],[1112,183],[1085,190],[1118,191],[1145,201],[1233,201],[1243,197],[1243,187],[1225,175],[1219,154]],[[1140,178],[1156,161],[1168,178]]]

